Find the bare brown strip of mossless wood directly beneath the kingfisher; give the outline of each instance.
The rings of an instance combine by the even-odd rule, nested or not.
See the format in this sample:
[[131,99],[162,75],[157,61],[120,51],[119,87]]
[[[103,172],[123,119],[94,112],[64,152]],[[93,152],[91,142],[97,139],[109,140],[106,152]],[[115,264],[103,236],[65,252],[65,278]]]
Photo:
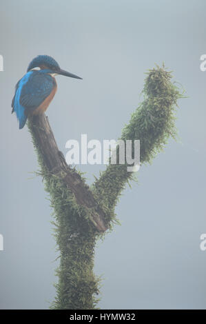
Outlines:
[[81,179],[76,170],[66,163],[63,153],[59,150],[48,117],[38,114],[30,117],[32,135],[38,143],[43,161],[48,171],[60,176],[68,189],[74,194],[76,203],[83,207],[90,215],[90,220],[99,232],[105,232],[108,224],[105,221],[105,212],[99,207],[89,186]]

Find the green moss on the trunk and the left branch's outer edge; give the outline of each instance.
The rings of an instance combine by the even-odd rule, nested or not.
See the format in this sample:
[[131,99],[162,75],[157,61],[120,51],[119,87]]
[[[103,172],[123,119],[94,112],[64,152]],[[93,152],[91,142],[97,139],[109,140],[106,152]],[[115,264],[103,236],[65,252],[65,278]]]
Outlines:
[[56,270],[56,298],[52,309],[86,310],[96,308],[99,301],[99,281],[93,273],[94,247],[99,233],[96,232],[83,207],[76,204],[74,195],[59,176],[48,172],[43,156],[34,138],[32,121],[28,121],[32,141],[37,152],[45,191],[50,194],[54,209],[54,236],[60,254]]

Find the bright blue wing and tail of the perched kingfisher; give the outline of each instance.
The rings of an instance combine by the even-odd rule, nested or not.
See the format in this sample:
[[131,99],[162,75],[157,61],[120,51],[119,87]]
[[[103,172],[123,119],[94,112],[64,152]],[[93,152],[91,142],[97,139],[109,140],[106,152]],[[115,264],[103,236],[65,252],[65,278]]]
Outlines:
[[20,129],[25,125],[28,114],[41,105],[53,88],[53,78],[43,71],[30,71],[19,80],[12,100],[12,112],[17,114]]

